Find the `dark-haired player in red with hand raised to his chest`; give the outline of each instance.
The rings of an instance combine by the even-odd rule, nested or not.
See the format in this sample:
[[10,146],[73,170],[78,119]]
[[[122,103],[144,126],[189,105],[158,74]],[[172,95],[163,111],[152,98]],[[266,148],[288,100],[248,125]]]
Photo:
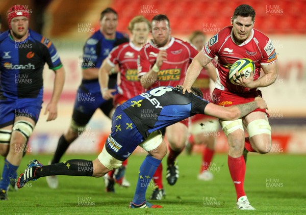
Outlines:
[[[152,18],[151,34],[153,39],[140,51],[138,76],[141,85],[146,89],[181,85],[187,67],[198,51],[188,42],[171,37],[170,22],[165,15],[159,14]],[[173,114],[175,111],[177,110],[173,109]],[[166,178],[170,185],[174,185],[179,178],[179,167],[175,160],[185,147],[187,125],[188,120],[184,120],[166,128],[166,138],[169,142]],[[160,200],[165,196],[162,172],[161,164],[153,177],[157,187],[150,199]]]

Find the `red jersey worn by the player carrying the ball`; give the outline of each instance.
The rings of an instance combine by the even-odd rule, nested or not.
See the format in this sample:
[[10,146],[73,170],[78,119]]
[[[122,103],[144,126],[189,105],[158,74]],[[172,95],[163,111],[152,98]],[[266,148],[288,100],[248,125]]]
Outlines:
[[275,63],[277,53],[272,41],[260,31],[252,29],[250,37],[238,45],[234,42],[232,29],[233,26],[225,27],[214,35],[202,49],[206,57],[210,59],[218,56],[216,88],[238,93],[256,91],[256,89],[232,84],[228,79],[228,71],[237,60],[249,58],[254,61],[256,67],[253,76],[256,80],[260,77],[261,65]]

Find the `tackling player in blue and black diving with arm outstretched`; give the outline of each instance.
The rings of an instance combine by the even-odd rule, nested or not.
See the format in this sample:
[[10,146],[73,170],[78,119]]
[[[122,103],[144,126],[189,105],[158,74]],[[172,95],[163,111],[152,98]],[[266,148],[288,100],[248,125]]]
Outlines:
[[49,175],[104,176],[119,168],[136,147],[140,146],[148,155],[140,166],[136,192],[130,207],[162,207],[149,203],[145,198],[149,182],[167,153],[167,146],[159,129],[195,114],[235,120],[258,107],[267,107],[265,100],[260,97],[249,103],[222,107],[204,100],[202,92],[197,88],[192,88],[192,93],[185,94],[182,90],[182,86],[157,87],[125,101],[117,106],[112,118],[111,134],[95,160],[71,159],[48,166],[33,160],[18,178],[18,188],[28,181]]

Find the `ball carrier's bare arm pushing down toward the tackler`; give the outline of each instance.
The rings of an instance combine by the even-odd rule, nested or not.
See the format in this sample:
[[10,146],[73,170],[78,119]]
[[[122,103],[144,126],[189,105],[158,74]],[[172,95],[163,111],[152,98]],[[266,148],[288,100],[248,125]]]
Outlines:
[[186,90],[187,92],[191,93],[190,88],[192,87],[195,79],[199,76],[201,69],[206,67],[209,62],[211,62],[211,59],[206,57],[203,51],[198,52],[187,69],[186,77],[183,83],[183,94],[185,94]]

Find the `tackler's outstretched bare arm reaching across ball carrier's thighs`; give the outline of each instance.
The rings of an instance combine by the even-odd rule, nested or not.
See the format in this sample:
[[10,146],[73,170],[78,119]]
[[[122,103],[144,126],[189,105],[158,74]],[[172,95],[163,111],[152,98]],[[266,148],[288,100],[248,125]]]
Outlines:
[[256,109],[266,109],[266,101],[261,97],[256,97],[254,101],[233,105],[229,107],[219,106],[213,103],[206,105],[204,113],[209,116],[217,117],[221,120],[236,120],[244,117]]

